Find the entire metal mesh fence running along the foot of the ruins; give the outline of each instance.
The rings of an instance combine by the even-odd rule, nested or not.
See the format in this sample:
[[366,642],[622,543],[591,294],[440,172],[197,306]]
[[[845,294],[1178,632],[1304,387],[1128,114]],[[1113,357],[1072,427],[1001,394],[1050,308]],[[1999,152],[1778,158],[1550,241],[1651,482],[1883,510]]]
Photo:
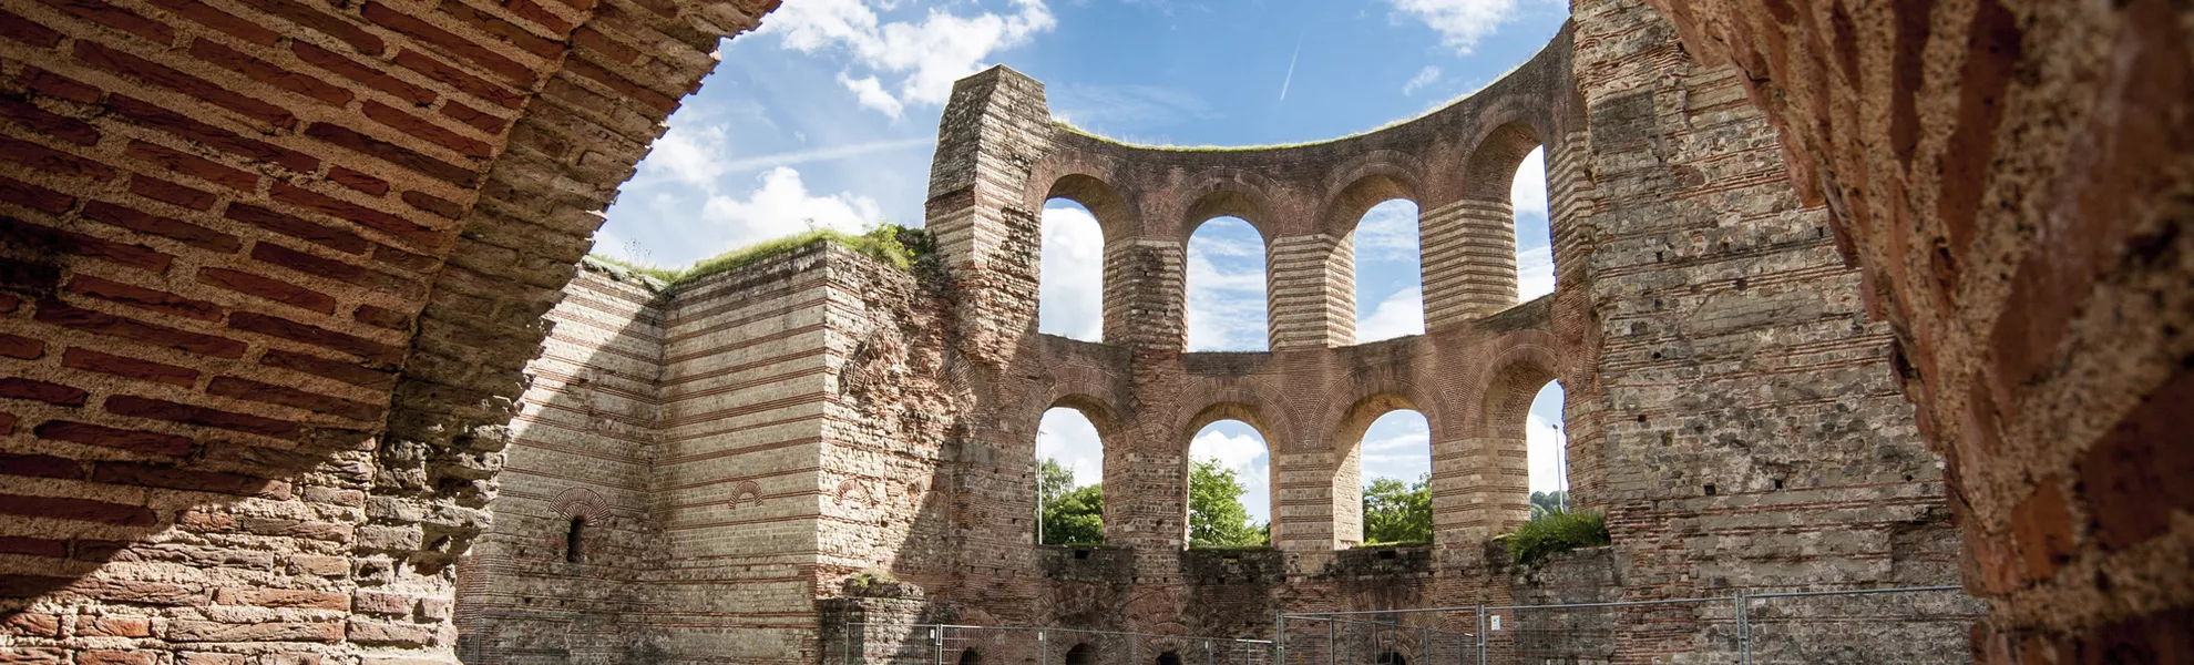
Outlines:
[[[1275,639],[845,623],[840,665],[1970,663],[1986,606],[1959,586],[1279,615]],[[1621,634],[1621,641],[1617,641]]]

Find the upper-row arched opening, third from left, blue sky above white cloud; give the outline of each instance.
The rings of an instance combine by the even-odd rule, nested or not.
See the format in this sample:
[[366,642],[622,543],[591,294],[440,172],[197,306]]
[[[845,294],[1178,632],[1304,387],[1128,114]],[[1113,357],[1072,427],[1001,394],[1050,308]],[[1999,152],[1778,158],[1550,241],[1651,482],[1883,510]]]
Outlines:
[[1424,334],[1424,270],[1417,255],[1417,204],[1404,198],[1371,206],[1356,222],[1356,342]]

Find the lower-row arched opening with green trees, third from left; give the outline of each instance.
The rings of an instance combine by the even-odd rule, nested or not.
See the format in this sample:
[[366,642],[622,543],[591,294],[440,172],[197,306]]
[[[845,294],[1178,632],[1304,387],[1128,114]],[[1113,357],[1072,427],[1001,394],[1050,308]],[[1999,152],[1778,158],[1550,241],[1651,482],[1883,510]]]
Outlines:
[[1433,542],[1433,426],[1393,408],[1358,439],[1362,544]]

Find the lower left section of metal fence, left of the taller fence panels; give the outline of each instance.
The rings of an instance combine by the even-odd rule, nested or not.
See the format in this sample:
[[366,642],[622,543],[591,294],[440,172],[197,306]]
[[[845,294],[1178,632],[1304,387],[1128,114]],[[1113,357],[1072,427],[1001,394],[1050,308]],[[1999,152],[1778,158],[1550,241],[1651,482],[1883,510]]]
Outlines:
[[836,663],[853,665],[1273,665],[1273,641],[1112,630],[847,623]]

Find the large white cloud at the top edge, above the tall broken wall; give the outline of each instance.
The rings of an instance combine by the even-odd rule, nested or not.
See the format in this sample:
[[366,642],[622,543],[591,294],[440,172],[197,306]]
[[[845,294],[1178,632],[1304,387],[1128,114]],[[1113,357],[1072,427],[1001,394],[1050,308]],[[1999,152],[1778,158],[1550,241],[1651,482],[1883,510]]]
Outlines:
[[[897,2],[875,2],[891,11]],[[1031,42],[1058,26],[1042,0],[1011,0],[1014,13],[954,15],[930,9],[919,22],[884,22],[862,0],[785,2],[761,22],[764,35],[781,35],[785,48],[814,53],[845,48],[864,72],[840,72],[862,105],[897,116],[900,105],[941,105],[952,81],[976,72],[992,53]],[[889,90],[878,75],[897,77]],[[873,86],[871,86],[873,83]]]

